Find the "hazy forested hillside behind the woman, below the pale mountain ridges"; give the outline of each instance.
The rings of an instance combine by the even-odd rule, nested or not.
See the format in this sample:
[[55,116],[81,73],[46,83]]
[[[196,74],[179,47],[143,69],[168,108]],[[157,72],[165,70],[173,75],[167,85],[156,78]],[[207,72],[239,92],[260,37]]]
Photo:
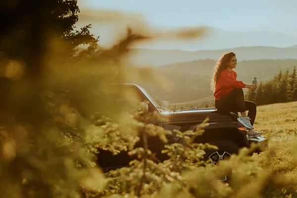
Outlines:
[[[159,101],[176,103],[201,99],[213,94],[210,90],[210,79],[214,65],[215,60],[204,59],[154,67],[155,75],[166,79],[171,89],[164,84],[156,84],[149,80],[132,83],[139,84]],[[245,83],[251,83],[254,76],[258,82],[266,82],[273,79],[280,70],[292,71],[294,66],[297,66],[297,59],[245,60],[238,62],[235,71],[238,80]]]

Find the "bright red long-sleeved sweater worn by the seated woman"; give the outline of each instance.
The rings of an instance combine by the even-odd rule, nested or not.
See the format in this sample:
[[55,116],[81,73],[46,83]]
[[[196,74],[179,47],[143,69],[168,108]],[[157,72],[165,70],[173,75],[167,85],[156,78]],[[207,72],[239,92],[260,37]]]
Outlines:
[[214,91],[214,98],[220,99],[222,96],[233,90],[234,88],[245,88],[246,84],[242,81],[236,80],[237,73],[232,70],[232,72],[224,69],[219,78]]

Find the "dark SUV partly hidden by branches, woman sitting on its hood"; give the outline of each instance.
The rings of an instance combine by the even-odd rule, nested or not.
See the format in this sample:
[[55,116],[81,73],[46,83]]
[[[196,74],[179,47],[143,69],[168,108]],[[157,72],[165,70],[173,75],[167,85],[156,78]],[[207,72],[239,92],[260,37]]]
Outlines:
[[[217,146],[218,150],[206,150],[205,160],[210,159],[211,163],[216,164],[225,157],[230,157],[231,154],[238,153],[240,148],[249,148],[251,143],[259,144],[254,152],[262,152],[268,149],[268,142],[264,136],[256,138],[249,138],[246,128],[237,121],[236,114],[230,116],[217,113],[216,108],[190,108],[185,110],[170,111],[153,99],[148,92],[142,87],[135,84],[119,84],[121,88],[128,88],[133,90],[133,93],[142,101],[148,101],[148,111],[158,111],[162,116],[168,118],[168,122],[161,122],[159,120],[151,120],[155,125],[164,127],[167,130],[177,129],[181,132],[195,129],[203,122],[206,117],[209,117],[209,126],[205,128],[202,136],[195,139],[197,143],[209,143]],[[181,143],[179,138],[174,135],[168,137],[169,143]],[[166,157],[161,154],[164,148],[163,143],[157,137],[150,137],[148,139],[148,148],[156,153],[156,157],[161,161]],[[98,163],[104,170],[115,169],[127,166],[131,158],[127,152],[121,152],[113,156],[109,151],[101,150],[98,158]]]

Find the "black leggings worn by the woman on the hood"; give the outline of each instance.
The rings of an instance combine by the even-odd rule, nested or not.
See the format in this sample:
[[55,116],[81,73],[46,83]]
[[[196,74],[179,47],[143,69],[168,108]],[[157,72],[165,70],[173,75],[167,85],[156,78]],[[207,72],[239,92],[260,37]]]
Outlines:
[[245,100],[244,91],[241,88],[233,89],[220,99],[215,99],[214,106],[218,109],[218,113],[224,115],[230,115],[230,112],[237,113],[248,110],[247,116],[251,119],[251,125],[256,118],[256,103]]

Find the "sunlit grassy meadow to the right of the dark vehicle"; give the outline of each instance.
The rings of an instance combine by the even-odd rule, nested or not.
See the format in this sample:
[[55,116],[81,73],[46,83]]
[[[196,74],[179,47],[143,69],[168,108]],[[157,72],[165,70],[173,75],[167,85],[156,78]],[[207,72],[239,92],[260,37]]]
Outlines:
[[275,180],[264,185],[263,197],[297,198],[297,102],[258,106],[254,128],[269,140],[269,150],[253,155],[255,163]]

